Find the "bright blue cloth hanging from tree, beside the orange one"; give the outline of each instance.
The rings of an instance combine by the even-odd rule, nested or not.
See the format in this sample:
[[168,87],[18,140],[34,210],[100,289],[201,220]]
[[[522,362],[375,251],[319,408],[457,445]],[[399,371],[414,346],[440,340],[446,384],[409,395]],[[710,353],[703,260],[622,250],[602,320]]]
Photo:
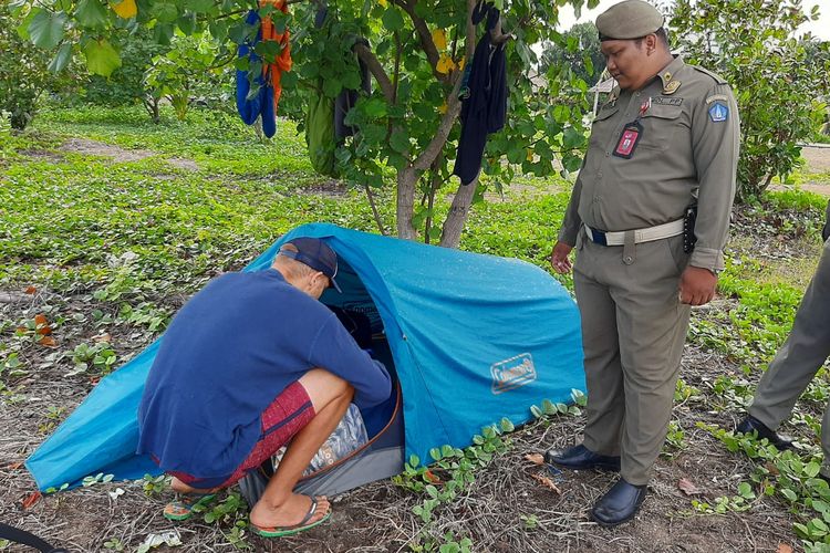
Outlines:
[[[256,10],[248,12],[245,22],[253,27],[259,22],[259,13]],[[253,51],[257,43],[262,40],[262,31],[257,30],[257,38],[239,44],[239,58],[248,58],[250,64],[261,63],[262,59]],[[270,79],[266,79],[260,72],[253,80],[259,85],[259,91],[253,97],[248,97],[251,91],[251,82],[248,80],[248,71],[237,70],[237,111],[246,125],[253,125],[257,117],[262,118],[262,133],[272,137],[277,133],[277,114],[273,106],[273,85]]]

